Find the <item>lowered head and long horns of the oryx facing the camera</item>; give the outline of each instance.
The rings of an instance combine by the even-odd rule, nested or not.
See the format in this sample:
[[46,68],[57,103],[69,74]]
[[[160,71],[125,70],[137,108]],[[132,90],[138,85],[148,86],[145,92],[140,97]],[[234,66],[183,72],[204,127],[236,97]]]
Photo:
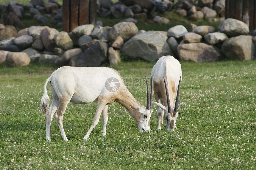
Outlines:
[[171,107],[171,104],[170,104],[168,86],[166,84],[165,78],[163,78],[163,80],[164,80],[165,90],[166,90],[167,107],[165,107],[162,104],[157,103],[157,102],[154,102],[154,104],[156,104],[158,107],[160,107],[161,109],[164,110],[167,130],[169,132],[174,132],[174,128],[176,127],[176,120],[178,118],[178,109],[180,107],[182,107],[183,104],[185,104],[185,103],[178,104],[181,76],[180,76],[180,79],[179,79],[179,85],[178,85],[178,90],[177,90],[177,97],[176,97],[176,101],[175,101],[174,107]]

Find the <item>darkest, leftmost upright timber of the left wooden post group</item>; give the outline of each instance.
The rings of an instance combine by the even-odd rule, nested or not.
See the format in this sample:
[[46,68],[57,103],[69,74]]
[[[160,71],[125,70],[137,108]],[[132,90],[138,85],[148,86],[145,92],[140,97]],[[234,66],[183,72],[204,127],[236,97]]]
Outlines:
[[62,29],[63,31],[69,32],[69,0],[63,0],[63,6],[62,6],[62,10],[63,10],[63,22],[62,22]]

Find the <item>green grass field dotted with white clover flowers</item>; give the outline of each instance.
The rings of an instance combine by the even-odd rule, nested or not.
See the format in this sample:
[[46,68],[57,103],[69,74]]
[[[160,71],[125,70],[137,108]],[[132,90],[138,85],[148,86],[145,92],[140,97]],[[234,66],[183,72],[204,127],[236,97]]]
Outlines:
[[[182,83],[177,129],[140,133],[135,120],[118,103],[108,109],[107,136],[102,119],[88,131],[97,102],[68,104],[63,142],[56,120],[46,142],[46,118],[40,112],[43,85],[55,66],[31,63],[21,68],[0,65],[0,169],[255,169],[256,61],[181,62]],[[122,62],[114,69],[126,78],[141,78],[154,63]],[[146,104],[145,87],[128,85]],[[51,90],[48,84],[48,93]],[[153,109],[157,109],[153,105]]]

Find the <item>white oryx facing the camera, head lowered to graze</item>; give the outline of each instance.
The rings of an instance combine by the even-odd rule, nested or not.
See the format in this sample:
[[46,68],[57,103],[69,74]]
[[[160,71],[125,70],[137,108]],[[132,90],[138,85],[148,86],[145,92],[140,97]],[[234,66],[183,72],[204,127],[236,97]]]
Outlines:
[[[156,99],[154,104],[157,105],[157,130],[161,130],[163,116],[165,115],[167,130],[174,131],[178,118],[178,109],[185,104],[178,104],[179,87],[182,80],[181,65],[173,56],[163,56],[155,63],[151,71],[151,77],[153,79],[152,85]],[[175,97],[176,102],[174,103]],[[163,114],[163,110],[165,114]]]

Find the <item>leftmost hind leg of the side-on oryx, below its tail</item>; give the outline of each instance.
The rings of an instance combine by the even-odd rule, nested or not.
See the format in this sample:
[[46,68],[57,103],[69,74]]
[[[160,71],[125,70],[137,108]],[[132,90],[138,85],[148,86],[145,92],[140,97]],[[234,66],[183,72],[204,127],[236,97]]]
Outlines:
[[50,134],[51,120],[59,104],[60,104],[59,98],[57,97],[53,98],[51,106],[49,107],[46,113],[46,141],[49,141],[49,142],[51,142],[51,134]]

